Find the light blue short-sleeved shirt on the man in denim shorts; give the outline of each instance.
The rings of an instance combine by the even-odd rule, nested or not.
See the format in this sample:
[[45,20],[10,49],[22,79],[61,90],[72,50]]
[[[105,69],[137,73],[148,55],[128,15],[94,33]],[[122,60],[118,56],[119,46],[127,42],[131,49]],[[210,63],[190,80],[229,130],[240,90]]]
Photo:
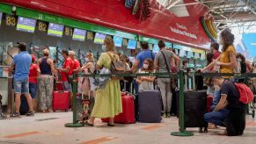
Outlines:
[[14,80],[24,80],[25,78],[28,78],[31,62],[31,56],[27,53],[27,51],[14,55]]

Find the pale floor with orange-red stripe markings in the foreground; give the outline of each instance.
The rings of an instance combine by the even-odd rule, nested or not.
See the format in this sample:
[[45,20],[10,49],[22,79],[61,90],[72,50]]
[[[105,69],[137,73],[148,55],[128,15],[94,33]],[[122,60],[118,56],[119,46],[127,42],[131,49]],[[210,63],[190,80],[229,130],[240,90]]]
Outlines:
[[192,137],[171,136],[179,129],[178,119],[163,119],[161,124],[136,123],[108,127],[97,119],[94,127],[64,127],[72,121],[71,112],[36,113],[34,117],[0,120],[0,144],[255,144],[256,120],[247,117],[245,134],[239,137],[224,136],[223,128],[198,133],[198,128],[188,128]]

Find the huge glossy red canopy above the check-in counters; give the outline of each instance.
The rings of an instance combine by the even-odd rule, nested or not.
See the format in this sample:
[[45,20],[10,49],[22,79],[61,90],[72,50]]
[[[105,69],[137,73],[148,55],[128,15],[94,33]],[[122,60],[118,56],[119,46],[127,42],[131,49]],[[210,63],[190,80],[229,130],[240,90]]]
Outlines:
[[[124,32],[167,40],[190,47],[208,48],[210,40],[200,18],[207,12],[201,4],[186,6],[188,17],[177,17],[150,0],[150,18],[140,21],[125,7],[125,0],[3,0],[6,4],[22,6],[66,18],[103,25]],[[184,4],[194,0],[183,0]]]

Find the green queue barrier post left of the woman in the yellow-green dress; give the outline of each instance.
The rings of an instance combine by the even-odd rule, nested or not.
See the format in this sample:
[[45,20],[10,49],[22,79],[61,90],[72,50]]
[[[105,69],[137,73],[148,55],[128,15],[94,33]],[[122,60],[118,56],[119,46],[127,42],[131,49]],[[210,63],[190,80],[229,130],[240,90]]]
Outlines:
[[78,123],[77,122],[77,74],[73,74],[72,78],[72,91],[73,91],[73,96],[72,96],[72,109],[73,109],[73,123],[66,123],[65,127],[83,127],[84,124]]

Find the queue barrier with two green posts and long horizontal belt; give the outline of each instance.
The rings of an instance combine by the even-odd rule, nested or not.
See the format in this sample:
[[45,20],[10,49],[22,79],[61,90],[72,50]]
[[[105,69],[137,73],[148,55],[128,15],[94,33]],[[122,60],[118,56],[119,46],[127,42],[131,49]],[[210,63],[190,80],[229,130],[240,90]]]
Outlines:
[[73,76],[73,123],[65,124],[66,127],[79,127],[83,126],[77,123],[77,77],[138,77],[138,76],[156,76],[157,78],[179,78],[179,132],[173,132],[175,136],[193,136],[194,133],[186,132],[184,124],[184,76],[203,76],[205,77],[231,77],[231,78],[252,78],[256,77],[256,74],[240,74],[240,73],[201,73],[201,72],[184,72],[179,70],[178,73],[143,73],[143,74],[91,74],[91,75],[77,75]]

